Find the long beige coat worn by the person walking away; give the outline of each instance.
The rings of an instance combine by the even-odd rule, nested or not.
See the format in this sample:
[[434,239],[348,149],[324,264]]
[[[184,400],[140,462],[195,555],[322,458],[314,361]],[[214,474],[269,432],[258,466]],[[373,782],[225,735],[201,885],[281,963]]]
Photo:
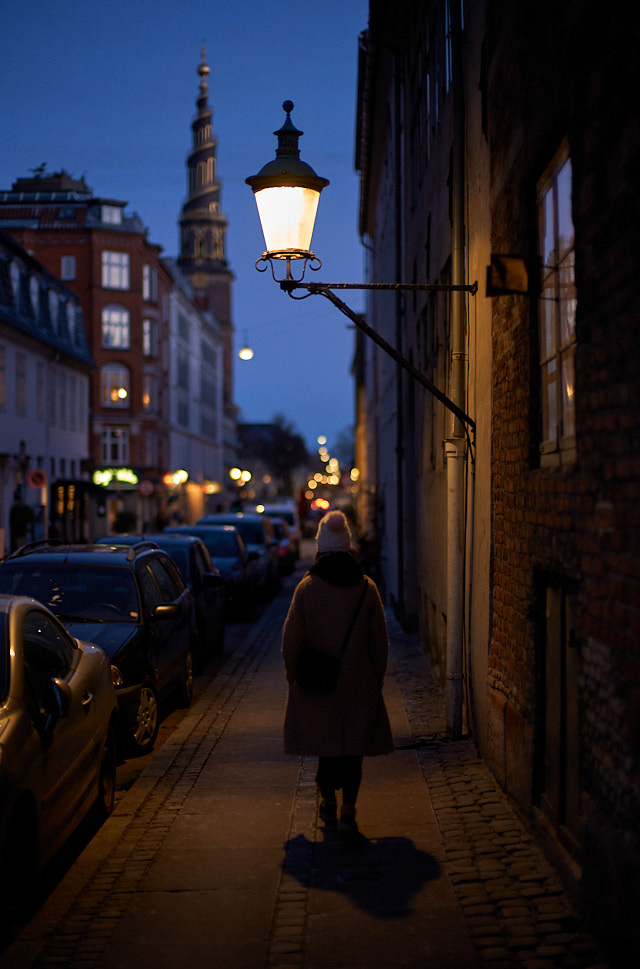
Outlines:
[[382,600],[365,577],[367,593],[342,658],[333,693],[315,693],[295,682],[305,642],[338,654],[362,593],[362,582],[340,587],[307,574],[296,587],[282,634],[289,683],[284,746],[289,754],[373,756],[393,750],[382,698],[389,642]]

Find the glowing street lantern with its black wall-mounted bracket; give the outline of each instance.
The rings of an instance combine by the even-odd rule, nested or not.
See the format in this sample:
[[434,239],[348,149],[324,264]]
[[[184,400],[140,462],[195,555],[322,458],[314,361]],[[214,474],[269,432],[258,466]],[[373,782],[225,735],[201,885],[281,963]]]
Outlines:
[[[462,422],[470,447],[473,446],[475,421],[453,400],[447,397],[432,381],[413,366],[395,347],[387,343],[374,329],[363,320],[360,314],[352,310],[343,302],[333,290],[369,289],[369,290],[422,290],[429,292],[458,292],[475,295],[478,284],[447,284],[447,283],[309,283],[303,282],[307,265],[317,271],[322,263],[311,250],[311,237],[320,193],[329,184],[329,180],[321,178],[316,172],[300,159],[298,139],[303,134],[291,121],[293,102],[285,101],[282,105],[286,112],[286,120],[281,128],[274,131],[278,138],[276,157],[267,162],[257,175],[250,175],[245,179],[247,185],[253,189],[258,207],[258,215],[262,225],[262,232],[266,249],[256,262],[256,269],[265,272],[271,267],[274,280],[280,288],[292,299],[307,299],[309,296],[324,296],[329,302],[344,313],[352,323],[362,330],[385,353],[392,357],[397,364],[411,375],[434,397]],[[285,263],[284,278],[276,275],[276,266]],[[301,262],[299,278],[293,276],[292,264]],[[296,291],[305,290],[305,294],[295,295]]]

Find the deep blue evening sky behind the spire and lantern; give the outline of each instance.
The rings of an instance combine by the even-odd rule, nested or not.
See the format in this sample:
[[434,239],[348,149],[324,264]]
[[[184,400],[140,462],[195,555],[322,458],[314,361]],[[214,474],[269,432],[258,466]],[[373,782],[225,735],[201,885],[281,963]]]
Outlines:
[[[294,303],[254,263],[263,249],[244,184],[275,152],[282,102],[304,131],[301,157],[330,179],[312,278],[363,278],[354,171],[358,35],[367,0],[22,0],[0,2],[0,190],[43,162],[126,200],[167,256],[178,254],[186,157],[203,42],[218,139],[233,289],[235,401],[245,421],[282,413],[315,450],[354,420],[354,333],[322,297]],[[360,310],[362,294],[348,295]]]

